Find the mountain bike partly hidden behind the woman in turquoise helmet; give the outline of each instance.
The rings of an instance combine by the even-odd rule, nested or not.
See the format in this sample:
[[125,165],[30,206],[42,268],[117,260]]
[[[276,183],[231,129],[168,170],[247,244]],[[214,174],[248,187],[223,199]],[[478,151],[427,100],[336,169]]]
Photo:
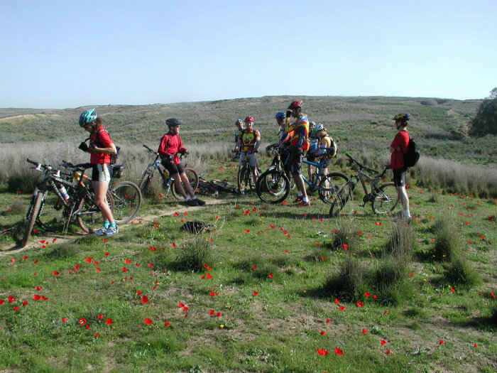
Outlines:
[[[72,171],[72,168],[74,168],[75,165],[70,162],[62,161],[61,166],[66,169],[66,172],[64,173],[66,175],[66,180],[75,180],[75,182],[79,182],[80,178],[86,180],[90,179],[87,175],[80,174],[79,171]],[[111,164],[111,168],[111,180],[119,179],[123,176],[123,165]],[[69,170],[69,172],[67,172],[67,170]],[[141,207],[142,196],[138,185],[128,180],[120,181],[119,183],[111,181],[109,193],[114,200],[114,211],[112,212],[112,216],[114,217],[116,224],[125,224],[133,219]]]

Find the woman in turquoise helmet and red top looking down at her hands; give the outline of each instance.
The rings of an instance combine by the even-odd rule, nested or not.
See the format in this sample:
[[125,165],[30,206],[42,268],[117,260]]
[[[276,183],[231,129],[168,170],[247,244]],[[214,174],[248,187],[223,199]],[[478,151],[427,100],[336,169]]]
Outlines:
[[111,236],[119,232],[112,211],[107,204],[107,190],[111,181],[111,154],[116,154],[116,146],[109,132],[102,126],[102,118],[97,115],[95,108],[82,112],[79,119],[80,127],[89,132],[89,146],[86,140],[80,144],[80,149],[90,153],[89,163],[92,165],[92,187],[95,193],[95,205],[102,211],[104,225],[91,233]]

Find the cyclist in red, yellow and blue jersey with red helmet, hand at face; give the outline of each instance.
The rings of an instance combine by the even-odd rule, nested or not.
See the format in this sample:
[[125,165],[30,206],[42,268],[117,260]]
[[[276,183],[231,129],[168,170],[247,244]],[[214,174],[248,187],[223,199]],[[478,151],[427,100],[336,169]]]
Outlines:
[[[290,116],[295,118],[292,124],[289,123]],[[309,147],[309,140],[307,138],[309,121],[307,116],[302,113],[302,101],[294,101],[288,106],[285,121],[285,131],[287,133],[293,131],[292,138],[290,139],[290,171],[297,186],[295,205],[310,206],[310,200],[307,197],[304,180],[302,179],[302,158],[304,151]]]

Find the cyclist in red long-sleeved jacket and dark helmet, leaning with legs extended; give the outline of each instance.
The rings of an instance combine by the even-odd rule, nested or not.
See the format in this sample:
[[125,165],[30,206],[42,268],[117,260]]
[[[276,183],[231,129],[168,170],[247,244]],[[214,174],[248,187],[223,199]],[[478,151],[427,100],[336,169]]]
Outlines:
[[[188,181],[187,175],[183,170],[178,153],[185,155],[188,154],[187,149],[183,147],[180,138],[180,125],[181,122],[176,118],[166,119],[165,124],[168,126],[169,131],[162,136],[158,148],[160,161],[163,166],[169,171],[170,176],[180,175],[179,178],[174,178],[176,190],[180,192],[185,198],[185,205],[187,206],[203,206],[205,202],[199,200]],[[181,184],[182,183],[182,184]],[[185,188],[183,188],[183,185]],[[185,191],[186,189],[186,191]],[[188,193],[188,194],[187,194]]]

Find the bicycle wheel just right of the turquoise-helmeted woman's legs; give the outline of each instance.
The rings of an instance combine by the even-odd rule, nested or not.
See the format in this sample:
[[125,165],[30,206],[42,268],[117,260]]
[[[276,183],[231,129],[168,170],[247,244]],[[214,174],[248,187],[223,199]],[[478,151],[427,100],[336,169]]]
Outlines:
[[116,224],[129,222],[141,206],[140,188],[131,181],[122,181],[110,190],[114,200],[114,220]]

